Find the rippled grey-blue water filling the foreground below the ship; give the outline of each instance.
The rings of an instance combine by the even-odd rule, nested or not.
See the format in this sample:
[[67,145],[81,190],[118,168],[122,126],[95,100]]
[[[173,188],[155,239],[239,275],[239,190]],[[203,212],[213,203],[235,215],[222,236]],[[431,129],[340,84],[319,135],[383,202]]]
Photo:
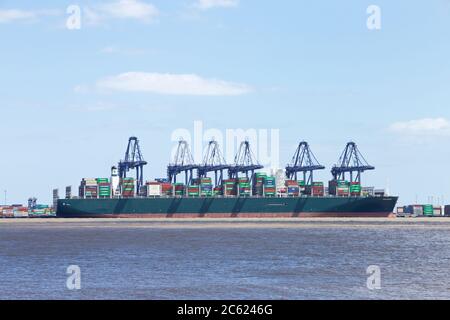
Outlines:
[[448,299],[449,265],[450,219],[0,221],[0,299]]

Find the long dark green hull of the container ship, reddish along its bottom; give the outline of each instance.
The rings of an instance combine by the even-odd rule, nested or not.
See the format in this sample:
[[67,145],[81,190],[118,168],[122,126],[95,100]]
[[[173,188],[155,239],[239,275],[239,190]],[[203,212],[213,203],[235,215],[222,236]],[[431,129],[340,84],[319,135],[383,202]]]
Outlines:
[[388,217],[397,197],[61,199],[57,216]]

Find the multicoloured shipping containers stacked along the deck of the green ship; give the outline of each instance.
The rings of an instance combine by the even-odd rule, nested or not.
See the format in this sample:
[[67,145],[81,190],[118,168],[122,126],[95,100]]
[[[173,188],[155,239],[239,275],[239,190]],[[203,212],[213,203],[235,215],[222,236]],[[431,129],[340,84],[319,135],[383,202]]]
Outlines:
[[[194,179],[191,185],[183,183],[171,184],[167,180],[157,179],[146,182],[138,190],[140,197],[211,197],[211,196],[288,196],[299,197],[310,195],[322,197],[325,194],[336,196],[368,196],[375,192],[373,188],[361,188],[359,183],[349,183],[343,180],[331,180],[329,188],[325,188],[323,182],[313,182],[306,186],[305,181],[284,180],[277,187],[277,180],[266,173],[257,172],[253,177],[253,185],[248,178],[224,180],[222,185],[213,187],[212,179],[209,177]],[[108,178],[83,179],[80,185],[79,195],[82,198],[109,198],[111,194],[111,183]],[[378,193],[380,191],[377,190]],[[121,180],[121,196],[130,198],[136,195],[135,180],[124,178]]]

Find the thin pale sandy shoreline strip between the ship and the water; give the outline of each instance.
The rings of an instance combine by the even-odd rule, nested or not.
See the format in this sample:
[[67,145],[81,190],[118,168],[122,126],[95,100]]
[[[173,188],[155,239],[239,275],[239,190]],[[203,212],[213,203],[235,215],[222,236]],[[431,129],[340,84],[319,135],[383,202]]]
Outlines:
[[450,229],[450,218],[15,218],[0,219],[0,228],[426,228]]

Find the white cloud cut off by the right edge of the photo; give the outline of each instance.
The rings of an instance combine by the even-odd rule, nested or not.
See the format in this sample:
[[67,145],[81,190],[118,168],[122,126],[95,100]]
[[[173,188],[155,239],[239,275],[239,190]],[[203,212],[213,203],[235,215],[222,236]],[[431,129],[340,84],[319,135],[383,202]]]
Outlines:
[[450,135],[450,121],[445,118],[424,118],[395,122],[389,130],[406,135]]

